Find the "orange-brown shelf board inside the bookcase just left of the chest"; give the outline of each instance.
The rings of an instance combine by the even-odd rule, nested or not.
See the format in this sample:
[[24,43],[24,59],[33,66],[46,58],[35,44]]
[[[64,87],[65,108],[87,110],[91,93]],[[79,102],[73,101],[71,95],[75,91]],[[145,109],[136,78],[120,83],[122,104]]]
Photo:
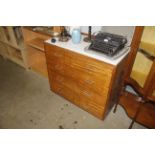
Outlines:
[[35,38],[27,42],[27,44],[31,47],[34,47],[40,51],[44,51],[44,39]]

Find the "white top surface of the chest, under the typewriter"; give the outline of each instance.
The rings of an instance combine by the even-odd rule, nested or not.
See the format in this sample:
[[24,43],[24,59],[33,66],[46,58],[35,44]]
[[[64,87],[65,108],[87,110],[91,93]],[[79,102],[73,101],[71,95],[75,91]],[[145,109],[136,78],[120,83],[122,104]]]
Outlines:
[[121,60],[123,60],[123,58],[129,53],[130,51],[130,47],[125,47],[123,48],[119,53],[121,56],[117,57],[117,55],[114,58],[108,57],[105,54],[101,53],[101,52],[97,52],[97,51],[92,51],[92,50],[88,50],[88,47],[90,45],[90,43],[84,42],[83,41],[83,36],[81,39],[81,42],[79,44],[73,44],[72,40],[70,39],[68,42],[60,42],[60,41],[56,41],[55,43],[51,42],[51,39],[46,40],[46,43],[49,43],[51,45],[55,45],[61,48],[65,48],[68,49],[72,52],[76,52],[112,65],[117,65],[119,64],[119,62],[121,62]]

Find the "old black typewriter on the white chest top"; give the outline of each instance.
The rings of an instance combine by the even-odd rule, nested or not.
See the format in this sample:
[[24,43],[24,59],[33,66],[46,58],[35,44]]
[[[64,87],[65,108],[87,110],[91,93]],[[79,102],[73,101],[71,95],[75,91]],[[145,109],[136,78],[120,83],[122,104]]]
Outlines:
[[127,43],[124,36],[100,32],[92,40],[89,49],[103,52],[108,56],[114,56]]

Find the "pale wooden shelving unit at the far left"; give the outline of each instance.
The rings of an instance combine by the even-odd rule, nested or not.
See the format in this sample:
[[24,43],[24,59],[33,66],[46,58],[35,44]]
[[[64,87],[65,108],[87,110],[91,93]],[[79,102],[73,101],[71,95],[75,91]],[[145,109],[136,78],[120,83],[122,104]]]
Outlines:
[[0,55],[26,68],[24,43],[21,27],[0,27]]

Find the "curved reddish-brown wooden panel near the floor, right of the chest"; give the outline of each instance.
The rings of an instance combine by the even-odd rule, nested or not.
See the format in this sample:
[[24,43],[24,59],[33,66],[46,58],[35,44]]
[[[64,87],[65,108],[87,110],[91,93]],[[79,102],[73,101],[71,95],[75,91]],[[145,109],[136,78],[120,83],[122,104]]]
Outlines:
[[[119,104],[125,109],[130,118],[134,118],[136,111],[142,104],[137,99],[137,96],[128,92],[125,92],[120,98]],[[155,104],[151,102],[142,104],[136,122],[148,128],[155,128]]]

